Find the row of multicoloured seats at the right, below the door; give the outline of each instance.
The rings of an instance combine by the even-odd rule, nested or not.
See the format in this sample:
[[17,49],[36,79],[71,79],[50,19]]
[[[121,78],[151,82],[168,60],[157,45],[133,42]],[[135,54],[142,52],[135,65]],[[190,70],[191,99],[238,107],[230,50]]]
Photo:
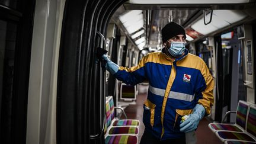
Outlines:
[[236,113],[235,124],[210,123],[209,128],[228,144],[256,143],[256,107],[239,101],[237,110],[231,112]]

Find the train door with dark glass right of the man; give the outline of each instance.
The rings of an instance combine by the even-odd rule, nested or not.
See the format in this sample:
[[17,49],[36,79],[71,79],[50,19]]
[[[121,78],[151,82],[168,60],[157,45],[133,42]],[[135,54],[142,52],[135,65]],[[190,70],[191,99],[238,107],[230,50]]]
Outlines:
[[[218,73],[218,100],[216,107],[221,113],[216,120],[222,120],[229,110],[236,110],[239,100],[247,101],[247,88],[245,87],[245,60],[246,49],[244,37],[239,36],[241,27],[232,28],[216,37],[217,46],[217,73]],[[222,79],[222,81],[220,81]],[[220,85],[222,85],[220,87]],[[228,117],[235,120],[235,116]],[[234,121],[231,121],[234,122]]]

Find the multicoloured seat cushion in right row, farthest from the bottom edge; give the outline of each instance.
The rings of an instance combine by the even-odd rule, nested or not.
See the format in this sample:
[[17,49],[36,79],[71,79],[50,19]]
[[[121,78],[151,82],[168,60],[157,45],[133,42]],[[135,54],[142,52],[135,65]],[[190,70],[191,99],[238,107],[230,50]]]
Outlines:
[[213,132],[215,132],[216,130],[230,130],[235,132],[242,132],[242,130],[234,124],[210,123],[209,127],[213,130]]

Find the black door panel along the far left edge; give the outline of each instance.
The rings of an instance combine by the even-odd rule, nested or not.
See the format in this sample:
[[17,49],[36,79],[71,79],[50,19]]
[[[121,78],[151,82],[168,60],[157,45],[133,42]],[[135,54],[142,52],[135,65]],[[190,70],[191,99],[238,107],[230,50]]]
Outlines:
[[0,1],[0,143],[25,143],[35,1]]

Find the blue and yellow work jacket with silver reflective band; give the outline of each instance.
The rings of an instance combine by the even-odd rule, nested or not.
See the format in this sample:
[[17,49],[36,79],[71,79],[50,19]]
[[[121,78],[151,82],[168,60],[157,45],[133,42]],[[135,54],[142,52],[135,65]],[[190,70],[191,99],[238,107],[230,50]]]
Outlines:
[[[164,50],[164,49],[163,49]],[[193,113],[201,104],[210,114],[214,81],[204,61],[185,50],[172,60],[163,52],[149,53],[132,68],[119,68],[114,76],[129,85],[149,81],[148,99],[144,103],[146,130],[161,140],[184,137],[181,117]]]

